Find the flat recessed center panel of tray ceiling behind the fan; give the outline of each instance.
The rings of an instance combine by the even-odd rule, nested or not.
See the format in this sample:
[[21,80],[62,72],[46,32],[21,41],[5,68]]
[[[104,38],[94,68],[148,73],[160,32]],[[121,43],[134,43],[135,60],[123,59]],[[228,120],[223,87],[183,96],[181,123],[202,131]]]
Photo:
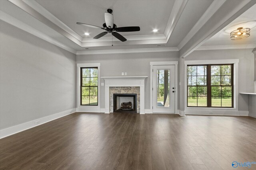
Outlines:
[[[173,0],[36,0],[46,10],[56,16],[82,37],[94,37],[102,30],[77,25],[76,22],[88,23],[102,26],[105,22],[104,12],[108,8],[113,10],[114,23],[118,27],[140,26],[138,32],[126,32],[122,35],[150,35],[153,29],[158,29],[157,33],[163,34],[174,1]],[[59,9],[59,10],[56,10]],[[90,35],[84,35],[85,32]],[[107,34],[106,36],[111,36]]]

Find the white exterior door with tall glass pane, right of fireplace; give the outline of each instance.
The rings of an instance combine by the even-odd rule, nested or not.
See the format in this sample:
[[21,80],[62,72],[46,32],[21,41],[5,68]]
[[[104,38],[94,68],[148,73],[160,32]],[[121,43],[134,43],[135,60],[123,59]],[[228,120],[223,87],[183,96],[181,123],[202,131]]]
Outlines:
[[175,65],[153,66],[153,113],[175,113]]

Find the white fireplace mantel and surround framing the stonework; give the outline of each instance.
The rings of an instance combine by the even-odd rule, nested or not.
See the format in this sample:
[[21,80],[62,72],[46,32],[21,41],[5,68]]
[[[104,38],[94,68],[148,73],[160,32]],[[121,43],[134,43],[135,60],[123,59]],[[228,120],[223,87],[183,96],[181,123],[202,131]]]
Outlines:
[[145,79],[148,76],[101,77],[105,80],[105,113],[110,113],[109,87],[140,87],[140,114],[145,114]]

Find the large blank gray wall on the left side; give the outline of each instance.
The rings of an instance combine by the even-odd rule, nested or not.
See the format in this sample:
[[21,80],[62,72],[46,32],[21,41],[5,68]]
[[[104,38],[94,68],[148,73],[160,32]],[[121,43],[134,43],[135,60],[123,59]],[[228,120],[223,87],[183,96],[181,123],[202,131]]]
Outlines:
[[0,22],[0,129],[76,108],[76,55]]

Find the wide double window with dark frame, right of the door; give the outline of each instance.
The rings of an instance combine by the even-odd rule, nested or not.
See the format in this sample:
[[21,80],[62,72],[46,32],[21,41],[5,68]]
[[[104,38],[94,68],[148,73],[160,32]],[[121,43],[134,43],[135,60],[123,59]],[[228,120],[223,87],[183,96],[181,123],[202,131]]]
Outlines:
[[188,107],[234,107],[233,64],[187,66]]

